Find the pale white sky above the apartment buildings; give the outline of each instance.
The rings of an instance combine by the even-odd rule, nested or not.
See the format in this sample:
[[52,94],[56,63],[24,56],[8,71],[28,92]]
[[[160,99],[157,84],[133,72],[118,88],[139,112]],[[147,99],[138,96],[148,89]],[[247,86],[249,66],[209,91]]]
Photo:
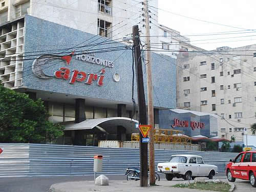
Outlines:
[[[159,24],[179,31],[197,47],[215,50],[256,44],[255,0],[158,0],[158,8]],[[225,34],[216,34],[220,32]]]

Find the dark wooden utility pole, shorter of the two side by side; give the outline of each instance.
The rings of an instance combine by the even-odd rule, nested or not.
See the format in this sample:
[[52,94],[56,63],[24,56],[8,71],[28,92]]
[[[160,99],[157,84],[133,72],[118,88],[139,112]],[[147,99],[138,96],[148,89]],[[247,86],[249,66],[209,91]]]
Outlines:
[[[143,84],[139,26],[133,26],[133,44],[135,56],[135,68],[137,77],[139,123],[146,124],[146,102]],[[140,133],[140,186],[147,187],[147,143],[142,143],[142,134]]]

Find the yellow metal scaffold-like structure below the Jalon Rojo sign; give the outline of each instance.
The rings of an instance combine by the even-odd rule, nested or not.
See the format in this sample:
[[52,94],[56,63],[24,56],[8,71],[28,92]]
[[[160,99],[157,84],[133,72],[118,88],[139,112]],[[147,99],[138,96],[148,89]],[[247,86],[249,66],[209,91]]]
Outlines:
[[[139,141],[139,133],[132,134],[132,141]],[[182,131],[154,129],[155,143],[191,143],[191,137],[183,136]]]

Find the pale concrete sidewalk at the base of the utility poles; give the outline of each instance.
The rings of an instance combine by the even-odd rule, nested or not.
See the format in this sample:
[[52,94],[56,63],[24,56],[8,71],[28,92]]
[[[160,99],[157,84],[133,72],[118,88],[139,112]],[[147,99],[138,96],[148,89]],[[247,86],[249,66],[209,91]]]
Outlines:
[[[226,179],[222,179],[226,181]],[[191,181],[194,182],[194,181]],[[97,192],[142,192],[142,191],[179,191],[179,192],[195,192],[201,191],[206,192],[205,190],[198,189],[187,189],[187,188],[174,188],[172,187],[178,183],[188,183],[184,180],[160,180],[156,182],[157,186],[149,187],[140,187],[140,181],[109,181],[108,186],[98,186],[94,184],[94,181],[77,181],[77,182],[65,182],[57,183],[51,186],[50,192],[85,192],[85,191],[97,191]],[[209,190],[207,190],[209,192]],[[216,192],[216,191],[215,191]]]

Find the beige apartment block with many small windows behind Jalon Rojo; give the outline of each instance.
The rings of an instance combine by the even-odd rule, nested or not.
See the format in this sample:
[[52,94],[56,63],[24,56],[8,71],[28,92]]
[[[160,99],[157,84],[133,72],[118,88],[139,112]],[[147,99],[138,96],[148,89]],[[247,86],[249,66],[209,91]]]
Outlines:
[[218,115],[218,136],[242,141],[256,122],[256,45],[177,59],[177,108]]

